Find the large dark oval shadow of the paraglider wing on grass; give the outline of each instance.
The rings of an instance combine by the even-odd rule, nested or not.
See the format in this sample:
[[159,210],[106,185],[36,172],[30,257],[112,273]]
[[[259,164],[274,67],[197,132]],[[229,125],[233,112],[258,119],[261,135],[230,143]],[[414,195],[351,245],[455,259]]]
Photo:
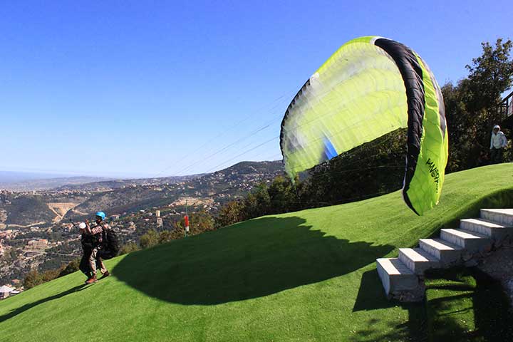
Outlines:
[[113,274],[149,296],[214,305],[275,294],[348,274],[393,246],[350,242],[299,217],[262,217],[128,254]]

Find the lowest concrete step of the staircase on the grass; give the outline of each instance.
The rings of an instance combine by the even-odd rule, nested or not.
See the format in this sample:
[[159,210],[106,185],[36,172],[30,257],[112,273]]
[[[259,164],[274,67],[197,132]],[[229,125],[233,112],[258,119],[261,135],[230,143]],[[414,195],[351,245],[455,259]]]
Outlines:
[[414,290],[419,286],[418,276],[399,261],[399,258],[376,259],[376,268],[387,296],[398,291]]

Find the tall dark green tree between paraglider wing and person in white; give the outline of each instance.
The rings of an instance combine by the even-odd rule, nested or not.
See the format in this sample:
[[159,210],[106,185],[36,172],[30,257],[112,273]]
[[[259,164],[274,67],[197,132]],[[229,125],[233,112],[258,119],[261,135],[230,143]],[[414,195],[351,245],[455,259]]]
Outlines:
[[482,55],[467,65],[469,75],[454,86],[442,86],[449,131],[447,172],[482,165],[493,125],[499,123],[497,105],[512,86],[512,41],[497,39],[495,46],[482,43]]

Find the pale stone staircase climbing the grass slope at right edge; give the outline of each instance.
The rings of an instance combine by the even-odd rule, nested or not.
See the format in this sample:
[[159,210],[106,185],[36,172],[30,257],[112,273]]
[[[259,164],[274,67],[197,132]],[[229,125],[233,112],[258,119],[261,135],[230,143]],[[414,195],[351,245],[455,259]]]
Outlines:
[[397,258],[376,259],[389,299],[420,301],[427,269],[472,263],[513,238],[513,209],[481,209],[479,219],[460,220],[460,229],[441,229],[439,239],[420,239],[418,248],[400,248]]

